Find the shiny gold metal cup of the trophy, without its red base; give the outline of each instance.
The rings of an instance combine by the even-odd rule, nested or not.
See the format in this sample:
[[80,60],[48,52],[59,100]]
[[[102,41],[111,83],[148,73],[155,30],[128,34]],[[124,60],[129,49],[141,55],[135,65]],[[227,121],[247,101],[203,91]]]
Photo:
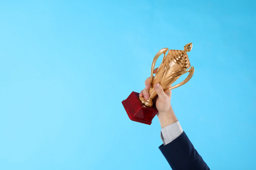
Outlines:
[[[190,67],[190,61],[188,59],[188,54],[186,52],[190,52],[192,50],[192,43],[188,43],[184,46],[184,50],[169,50],[167,56],[165,56],[168,48],[161,49],[153,59],[152,67],[151,67],[151,87],[149,89],[150,97],[148,100],[145,100],[144,97],[140,97],[140,101],[146,105],[147,107],[152,107],[153,99],[156,97],[157,93],[154,90],[154,84],[160,83],[163,91],[168,91],[173,88],[177,88],[182,86],[194,74],[194,67]],[[163,61],[158,67],[158,71],[156,71],[156,75],[154,74],[154,67],[156,65],[156,60],[163,54]],[[188,69],[190,67],[190,69]],[[188,69],[188,71],[186,71]],[[175,82],[181,75],[184,73],[189,73],[188,76],[179,84],[175,86],[171,86],[173,82]]]

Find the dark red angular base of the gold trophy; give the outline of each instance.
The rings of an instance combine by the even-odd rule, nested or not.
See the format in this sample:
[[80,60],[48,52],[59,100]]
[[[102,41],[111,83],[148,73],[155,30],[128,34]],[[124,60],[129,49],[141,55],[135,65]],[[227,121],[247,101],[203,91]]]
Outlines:
[[139,99],[139,93],[131,92],[129,97],[122,101],[129,118],[142,124],[151,124],[152,119],[158,113],[156,107],[146,107]]

